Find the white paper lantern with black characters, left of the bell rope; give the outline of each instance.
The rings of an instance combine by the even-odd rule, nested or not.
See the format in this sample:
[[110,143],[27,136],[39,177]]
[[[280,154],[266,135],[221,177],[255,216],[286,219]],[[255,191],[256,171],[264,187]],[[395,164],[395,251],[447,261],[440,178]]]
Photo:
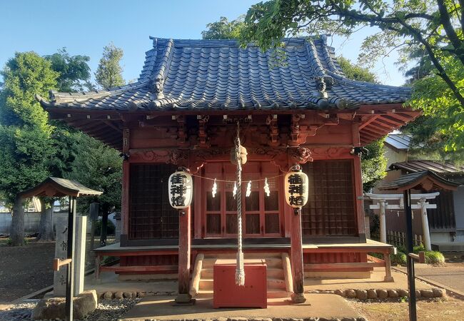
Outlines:
[[192,175],[178,170],[169,176],[168,182],[169,203],[179,210],[188,208],[192,202],[193,180]]

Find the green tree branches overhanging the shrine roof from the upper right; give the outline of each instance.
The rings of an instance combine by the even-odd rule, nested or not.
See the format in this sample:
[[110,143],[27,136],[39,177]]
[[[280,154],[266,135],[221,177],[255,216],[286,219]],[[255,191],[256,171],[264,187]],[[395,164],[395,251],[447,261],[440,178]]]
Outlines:
[[[248,10],[241,30],[243,44],[278,47],[286,35],[326,33],[350,35],[363,26],[380,29],[363,41],[360,61],[369,66],[392,49],[405,56],[422,50],[433,74],[414,83],[413,108],[443,117],[450,131],[446,151],[464,148],[464,10],[462,1],[445,0],[271,0]],[[430,90],[433,89],[433,90]]]

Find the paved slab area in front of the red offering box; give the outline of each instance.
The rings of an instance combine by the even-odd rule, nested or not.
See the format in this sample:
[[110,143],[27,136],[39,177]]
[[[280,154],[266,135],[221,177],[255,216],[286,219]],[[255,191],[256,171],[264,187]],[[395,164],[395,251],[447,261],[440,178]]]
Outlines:
[[[338,295],[305,295],[307,301],[291,305],[288,301],[268,300],[267,309],[213,308],[212,299],[196,300],[195,305],[174,305],[173,297],[145,297],[127,312],[124,321],[145,320],[263,320],[309,319],[364,320],[348,302]],[[264,320],[263,320],[264,321]],[[270,321],[270,320],[269,320]]]

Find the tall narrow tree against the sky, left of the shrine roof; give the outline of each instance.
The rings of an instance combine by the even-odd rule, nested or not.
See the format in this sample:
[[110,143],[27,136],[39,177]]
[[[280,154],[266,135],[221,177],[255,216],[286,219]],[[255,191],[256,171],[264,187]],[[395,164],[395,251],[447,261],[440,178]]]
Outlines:
[[123,68],[120,65],[123,54],[123,50],[113,43],[104,47],[103,56],[95,73],[96,82],[102,88],[108,89],[125,84],[122,76]]

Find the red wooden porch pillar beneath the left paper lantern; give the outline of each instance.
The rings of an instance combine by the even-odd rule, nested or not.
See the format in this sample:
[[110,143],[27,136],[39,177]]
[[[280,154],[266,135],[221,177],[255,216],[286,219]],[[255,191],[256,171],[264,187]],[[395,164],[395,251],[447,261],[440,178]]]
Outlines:
[[190,206],[179,210],[178,246],[178,295],[176,303],[191,303],[190,292],[190,248],[191,248],[191,210]]

